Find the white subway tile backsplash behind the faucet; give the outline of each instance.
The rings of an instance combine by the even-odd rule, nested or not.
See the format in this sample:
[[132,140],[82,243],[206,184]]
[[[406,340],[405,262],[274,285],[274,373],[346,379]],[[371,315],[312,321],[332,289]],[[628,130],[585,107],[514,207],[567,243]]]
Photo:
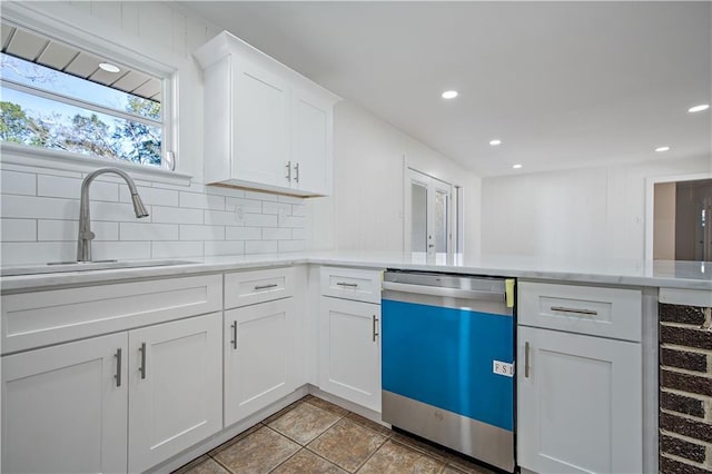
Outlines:
[[[73,260],[80,172],[2,164],[2,265]],[[137,219],[125,184],[90,189],[93,259],[197,258],[305,249],[301,198],[192,184],[137,180],[149,217]]]

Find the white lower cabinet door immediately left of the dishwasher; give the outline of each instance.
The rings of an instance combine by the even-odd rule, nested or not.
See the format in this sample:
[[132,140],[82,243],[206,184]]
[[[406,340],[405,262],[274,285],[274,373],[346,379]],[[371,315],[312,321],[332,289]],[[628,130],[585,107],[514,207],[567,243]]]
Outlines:
[[322,297],[319,385],[380,412],[380,306]]

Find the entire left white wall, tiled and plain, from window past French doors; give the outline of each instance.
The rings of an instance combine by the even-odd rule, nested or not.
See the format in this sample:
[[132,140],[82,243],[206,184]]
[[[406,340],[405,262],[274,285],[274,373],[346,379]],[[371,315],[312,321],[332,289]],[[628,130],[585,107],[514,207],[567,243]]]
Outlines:
[[[140,180],[150,216],[137,220],[125,186],[100,178],[91,192],[95,259],[298,251],[308,246],[309,237],[310,248],[402,250],[404,156],[409,166],[465,188],[465,248],[478,251],[479,179],[346,101],[335,110],[333,197],[304,200],[204,186],[202,78],[190,53],[218,29],[180,6],[152,1],[21,4],[46,27],[118,45],[129,58],[155,60],[177,75],[177,170],[192,175],[192,184]],[[96,167],[100,166],[106,165]],[[73,259],[79,189],[87,171],[0,161],[3,265]]]

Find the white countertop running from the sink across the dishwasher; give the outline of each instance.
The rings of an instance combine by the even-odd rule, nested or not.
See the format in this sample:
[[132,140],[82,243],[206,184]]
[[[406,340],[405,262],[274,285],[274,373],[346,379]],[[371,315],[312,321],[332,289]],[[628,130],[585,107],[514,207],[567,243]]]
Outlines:
[[712,292],[712,264],[700,261],[541,258],[525,256],[482,256],[454,261],[426,261],[398,253],[314,251],[260,256],[225,256],[190,259],[195,264],[164,267],[53,273],[0,278],[2,293],[82,286],[123,279],[186,276],[294,264],[339,265],[366,268],[399,268],[486,276],[517,277],[593,283],[684,288]]

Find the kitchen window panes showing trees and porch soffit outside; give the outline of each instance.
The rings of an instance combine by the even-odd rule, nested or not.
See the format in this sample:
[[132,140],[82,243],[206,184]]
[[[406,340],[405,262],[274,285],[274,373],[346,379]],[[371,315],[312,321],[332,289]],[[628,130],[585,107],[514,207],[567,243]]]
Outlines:
[[2,24],[0,141],[172,169],[162,79]]

